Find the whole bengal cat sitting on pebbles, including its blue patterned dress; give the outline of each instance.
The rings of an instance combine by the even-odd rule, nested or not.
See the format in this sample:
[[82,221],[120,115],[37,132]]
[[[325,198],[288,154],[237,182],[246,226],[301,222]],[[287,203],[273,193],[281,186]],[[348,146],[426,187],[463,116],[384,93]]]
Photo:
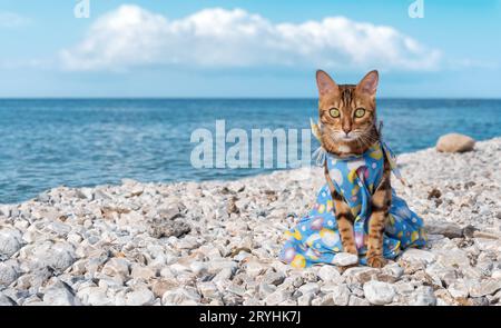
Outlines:
[[[376,128],[377,71],[358,85],[336,85],[317,71],[321,141],[317,162],[326,183],[310,212],[285,231],[279,259],[294,268],[357,264],[381,268],[403,249],[426,245],[423,220],[392,189],[402,179],[395,156]],[[354,257],[338,257],[351,252]],[[343,260],[344,259],[344,260]]]

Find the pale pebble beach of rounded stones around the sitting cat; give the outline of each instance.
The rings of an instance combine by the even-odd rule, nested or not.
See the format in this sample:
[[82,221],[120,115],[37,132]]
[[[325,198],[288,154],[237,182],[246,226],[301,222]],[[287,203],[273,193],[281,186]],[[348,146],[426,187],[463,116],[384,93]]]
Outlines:
[[429,230],[383,269],[277,260],[318,168],[238,181],[59,187],[0,206],[0,305],[500,305],[501,138],[399,158]]

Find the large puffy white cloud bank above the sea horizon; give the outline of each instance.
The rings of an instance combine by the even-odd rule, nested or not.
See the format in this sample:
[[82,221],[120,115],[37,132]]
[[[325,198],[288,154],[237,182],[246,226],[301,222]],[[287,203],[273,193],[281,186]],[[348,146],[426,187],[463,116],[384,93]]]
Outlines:
[[137,66],[258,66],[426,70],[440,51],[392,27],[327,17],[274,23],[242,9],[205,9],[178,20],[137,6],[100,17],[85,39],[60,53],[68,70]]

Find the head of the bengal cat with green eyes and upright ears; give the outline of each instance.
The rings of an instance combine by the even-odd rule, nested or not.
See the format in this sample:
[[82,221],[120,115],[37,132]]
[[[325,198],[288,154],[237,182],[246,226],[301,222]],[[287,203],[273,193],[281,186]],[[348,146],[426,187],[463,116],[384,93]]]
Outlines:
[[375,93],[379,74],[369,72],[358,85],[337,85],[326,72],[316,72],[322,146],[332,153],[364,152],[377,141]]

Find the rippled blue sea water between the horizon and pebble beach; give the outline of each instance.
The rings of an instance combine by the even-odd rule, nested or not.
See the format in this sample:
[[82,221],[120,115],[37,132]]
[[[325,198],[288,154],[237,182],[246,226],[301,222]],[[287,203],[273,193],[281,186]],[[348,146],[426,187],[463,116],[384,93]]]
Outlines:
[[[446,132],[478,140],[501,135],[501,100],[382,99],[377,110],[396,153],[432,147]],[[60,185],[263,173],[273,169],[193,168],[197,143],[190,142],[191,132],[215,132],[216,120],[225,120],[226,130],[308,129],[310,117],[316,116],[314,99],[0,100],[0,203],[23,201]]]

